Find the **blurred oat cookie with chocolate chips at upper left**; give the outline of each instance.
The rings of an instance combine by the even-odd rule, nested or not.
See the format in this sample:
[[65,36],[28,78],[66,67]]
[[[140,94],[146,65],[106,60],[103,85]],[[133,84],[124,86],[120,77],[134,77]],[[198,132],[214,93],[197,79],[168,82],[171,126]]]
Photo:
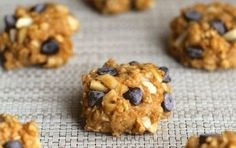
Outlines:
[[79,29],[79,22],[63,5],[18,7],[4,21],[0,53],[7,70],[31,65],[59,67],[73,54],[70,38]]

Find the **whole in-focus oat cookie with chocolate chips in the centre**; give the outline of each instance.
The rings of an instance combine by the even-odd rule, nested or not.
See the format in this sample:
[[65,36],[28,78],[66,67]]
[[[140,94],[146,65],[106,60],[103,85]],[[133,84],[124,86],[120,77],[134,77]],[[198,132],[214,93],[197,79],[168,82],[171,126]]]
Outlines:
[[173,110],[167,67],[117,64],[112,59],[83,78],[82,117],[85,130],[112,133],[154,133],[158,121]]

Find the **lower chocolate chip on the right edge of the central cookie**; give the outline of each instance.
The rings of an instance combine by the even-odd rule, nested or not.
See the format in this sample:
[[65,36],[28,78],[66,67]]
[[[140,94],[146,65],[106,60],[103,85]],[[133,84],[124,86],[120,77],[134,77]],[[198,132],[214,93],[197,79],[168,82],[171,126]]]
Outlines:
[[161,106],[164,109],[164,112],[170,112],[173,110],[174,108],[174,98],[170,93],[165,92],[163,94],[164,99],[163,102],[161,104]]

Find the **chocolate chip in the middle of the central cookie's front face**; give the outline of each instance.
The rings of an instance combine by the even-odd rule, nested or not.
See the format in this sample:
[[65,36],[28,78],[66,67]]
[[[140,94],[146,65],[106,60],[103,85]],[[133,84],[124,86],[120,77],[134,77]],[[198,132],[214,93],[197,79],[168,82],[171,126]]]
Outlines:
[[129,100],[133,105],[139,105],[142,101],[142,91],[138,87],[129,88],[129,90],[123,94],[123,97]]

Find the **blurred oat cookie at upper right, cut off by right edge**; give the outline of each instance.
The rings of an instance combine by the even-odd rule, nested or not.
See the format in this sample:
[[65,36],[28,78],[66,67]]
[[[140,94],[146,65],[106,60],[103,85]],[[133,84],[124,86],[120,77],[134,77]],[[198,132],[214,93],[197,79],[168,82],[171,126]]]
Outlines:
[[169,52],[186,66],[236,67],[236,7],[226,3],[195,4],[171,22]]

